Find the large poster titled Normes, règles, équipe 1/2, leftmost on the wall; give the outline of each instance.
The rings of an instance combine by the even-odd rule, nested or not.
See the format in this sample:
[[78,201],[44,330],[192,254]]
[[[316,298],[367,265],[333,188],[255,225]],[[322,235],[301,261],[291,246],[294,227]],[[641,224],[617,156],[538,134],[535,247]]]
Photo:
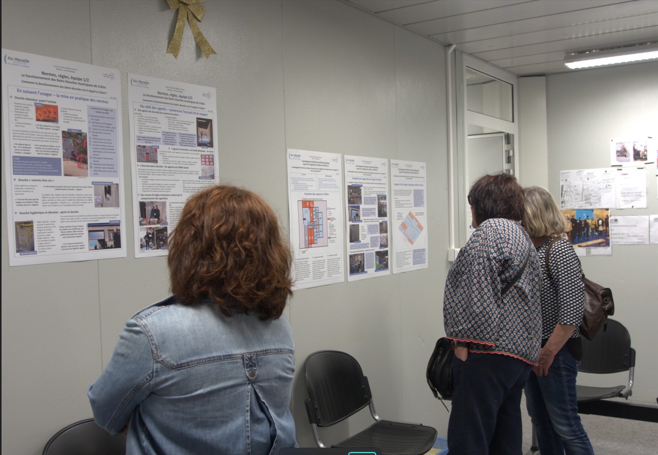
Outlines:
[[126,256],[118,70],[2,54],[9,265]]

